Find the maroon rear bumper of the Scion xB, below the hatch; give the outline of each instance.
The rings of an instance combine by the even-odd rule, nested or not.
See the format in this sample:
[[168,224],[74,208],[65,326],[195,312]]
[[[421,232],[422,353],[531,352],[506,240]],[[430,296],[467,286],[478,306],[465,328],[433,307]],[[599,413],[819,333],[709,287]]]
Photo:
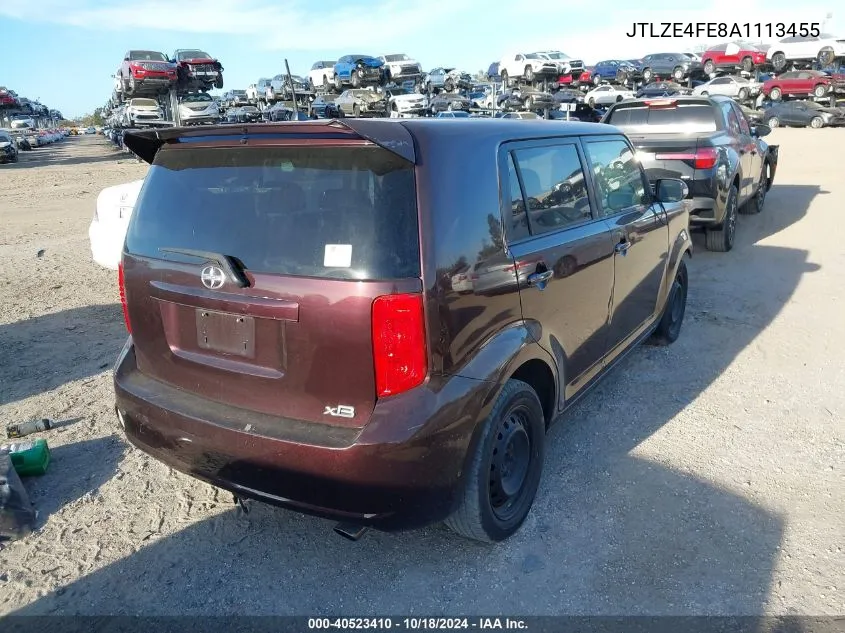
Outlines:
[[169,387],[137,370],[131,339],[114,376],[127,439],[170,467],[243,497],[387,531],[441,521],[454,508],[476,418],[466,407],[446,407],[448,420],[433,412],[480,385],[445,384],[380,402],[354,429],[256,416]]

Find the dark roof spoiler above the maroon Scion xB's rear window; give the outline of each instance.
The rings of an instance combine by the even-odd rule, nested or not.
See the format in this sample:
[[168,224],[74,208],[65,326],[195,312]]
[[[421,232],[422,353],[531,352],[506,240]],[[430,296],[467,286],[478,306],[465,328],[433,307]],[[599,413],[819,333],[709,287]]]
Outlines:
[[357,136],[375,143],[389,152],[416,164],[417,155],[414,138],[400,121],[390,119],[332,119],[323,121],[292,121],[285,123],[255,123],[227,125],[208,128],[167,128],[162,130],[139,130],[124,133],[124,146],[138,158],[152,164],[158,151],[167,143],[179,143],[182,139],[208,137],[234,137],[272,135],[284,138],[286,135],[311,134],[320,137],[326,134]]

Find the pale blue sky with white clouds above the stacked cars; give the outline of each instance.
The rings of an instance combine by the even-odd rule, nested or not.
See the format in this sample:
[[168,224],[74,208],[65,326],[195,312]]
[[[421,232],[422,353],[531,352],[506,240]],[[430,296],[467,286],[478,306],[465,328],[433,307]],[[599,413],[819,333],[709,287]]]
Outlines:
[[[503,55],[562,50],[591,64],[684,52],[727,38],[627,37],[634,22],[824,23],[845,37],[839,2],[712,0],[701,9],[666,0],[0,0],[0,86],[72,118],[108,100],[127,50],[199,48],[224,67],[224,90],[319,59],[405,53],[423,69],[470,73]],[[686,3],[683,3],[686,4]],[[634,9],[630,7],[635,7]],[[828,17],[830,16],[830,17]],[[772,41],[769,37],[751,37]]]

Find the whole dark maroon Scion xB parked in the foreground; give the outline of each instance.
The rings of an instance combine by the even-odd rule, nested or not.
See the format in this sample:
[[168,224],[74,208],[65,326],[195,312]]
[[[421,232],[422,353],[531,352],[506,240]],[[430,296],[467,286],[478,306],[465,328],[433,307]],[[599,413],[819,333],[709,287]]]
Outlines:
[[347,536],[513,534],[548,425],[633,345],[679,335],[686,185],[652,194],[612,126],[343,119],[125,143],[152,164],[119,269],[127,437]]

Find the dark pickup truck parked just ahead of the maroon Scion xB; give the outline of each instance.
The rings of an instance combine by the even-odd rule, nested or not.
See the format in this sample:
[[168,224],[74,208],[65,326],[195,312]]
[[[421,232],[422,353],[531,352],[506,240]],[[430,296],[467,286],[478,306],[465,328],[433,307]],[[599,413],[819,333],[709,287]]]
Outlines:
[[759,213],[772,186],[778,146],[750,125],[739,105],[717,95],[636,99],[612,105],[602,123],[620,128],[650,181],[680,178],[689,188],[690,225],[708,250],[733,248],[737,213]]

